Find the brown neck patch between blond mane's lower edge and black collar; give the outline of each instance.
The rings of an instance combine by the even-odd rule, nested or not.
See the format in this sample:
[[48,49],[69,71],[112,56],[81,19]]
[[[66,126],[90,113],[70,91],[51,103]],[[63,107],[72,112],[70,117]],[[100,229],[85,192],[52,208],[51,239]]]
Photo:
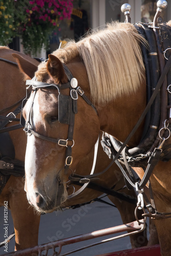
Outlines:
[[[138,90],[136,93],[115,99],[104,108],[97,107],[100,129],[124,142],[141,116],[145,104],[146,89],[145,84],[142,84],[141,90]],[[130,140],[130,146],[136,146],[138,144],[142,131],[143,123]]]

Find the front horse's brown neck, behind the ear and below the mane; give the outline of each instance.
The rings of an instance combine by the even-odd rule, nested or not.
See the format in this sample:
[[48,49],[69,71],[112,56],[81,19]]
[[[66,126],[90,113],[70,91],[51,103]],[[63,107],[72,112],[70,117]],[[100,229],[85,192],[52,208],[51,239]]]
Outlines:
[[[73,61],[67,65],[74,77],[78,79],[78,84],[83,89],[86,96],[90,98],[90,89],[87,84],[88,77],[86,68],[80,60]],[[146,104],[146,87],[143,82],[136,93],[122,96],[115,99],[108,105],[97,106],[100,121],[100,129],[113,135],[118,140],[124,142],[130,134]],[[136,146],[141,139],[143,123],[130,140],[130,146]]]

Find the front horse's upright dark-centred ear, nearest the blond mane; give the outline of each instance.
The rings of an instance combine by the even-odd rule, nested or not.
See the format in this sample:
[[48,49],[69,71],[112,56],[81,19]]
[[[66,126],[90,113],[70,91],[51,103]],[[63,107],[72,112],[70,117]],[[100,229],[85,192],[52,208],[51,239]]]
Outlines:
[[62,62],[53,54],[48,55],[48,73],[55,83],[66,83],[68,81]]

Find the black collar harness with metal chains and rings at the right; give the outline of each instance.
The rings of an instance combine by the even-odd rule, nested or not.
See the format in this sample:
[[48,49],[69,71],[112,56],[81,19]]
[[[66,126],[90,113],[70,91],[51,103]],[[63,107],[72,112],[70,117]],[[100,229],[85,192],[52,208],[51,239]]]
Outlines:
[[[142,55],[146,71],[147,83],[147,106],[135,125],[131,134],[124,143],[116,140],[109,134],[103,134],[101,144],[108,156],[120,167],[125,183],[128,188],[134,187],[138,194],[138,203],[135,210],[143,209],[143,196],[147,203],[149,212],[143,214],[154,219],[170,218],[171,212],[158,212],[154,203],[153,192],[149,178],[159,160],[168,161],[171,159],[171,144],[166,142],[170,137],[171,121],[171,28],[166,24],[157,24],[160,9],[157,10],[153,24],[138,23],[135,27],[138,33],[142,34],[149,43],[149,49],[144,46]],[[167,53],[167,57],[166,57]],[[160,77],[159,77],[160,71]],[[152,93],[153,92],[153,93]],[[161,106],[161,107],[160,107]],[[132,135],[145,117],[144,132],[137,147],[126,146]],[[116,160],[118,158],[118,160]],[[125,168],[122,165],[125,165]],[[131,166],[142,167],[144,176],[138,183]],[[144,168],[144,166],[147,166]],[[143,187],[148,183],[151,202],[144,195]]]

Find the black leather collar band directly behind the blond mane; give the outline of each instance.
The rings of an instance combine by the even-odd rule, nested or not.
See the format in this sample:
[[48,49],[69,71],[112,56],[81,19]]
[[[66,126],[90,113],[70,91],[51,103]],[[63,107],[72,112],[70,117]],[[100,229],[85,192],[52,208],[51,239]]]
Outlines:
[[[142,23],[138,23],[138,25],[139,26],[135,26],[135,28],[140,34],[144,35],[149,44],[148,49],[146,46],[142,46],[142,55],[146,72],[146,91],[148,102],[160,78],[159,60],[156,40],[152,29],[148,28]],[[149,112],[147,112],[148,116],[146,115],[145,117],[145,130],[143,131],[141,142],[137,146],[139,148],[143,148],[144,151],[149,149],[149,145],[153,144],[153,138],[157,136],[157,127],[160,123],[160,101],[160,94],[158,93],[154,99],[151,109]],[[134,149],[127,150],[127,153],[131,155],[133,154],[133,151]]]

